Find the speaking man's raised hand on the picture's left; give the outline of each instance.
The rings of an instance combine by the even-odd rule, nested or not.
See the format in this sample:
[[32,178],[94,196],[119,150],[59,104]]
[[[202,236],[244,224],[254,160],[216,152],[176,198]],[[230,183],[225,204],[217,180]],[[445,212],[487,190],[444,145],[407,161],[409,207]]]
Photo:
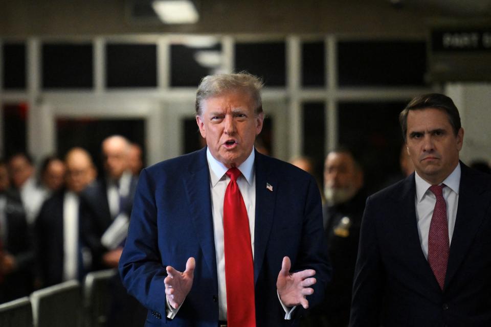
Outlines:
[[191,290],[195,265],[194,258],[191,257],[186,262],[186,270],[184,272],[177,271],[171,266],[165,268],[167,270],[167,277],[164,279],[165,294],[172,308],[177,309],[182,305]]

